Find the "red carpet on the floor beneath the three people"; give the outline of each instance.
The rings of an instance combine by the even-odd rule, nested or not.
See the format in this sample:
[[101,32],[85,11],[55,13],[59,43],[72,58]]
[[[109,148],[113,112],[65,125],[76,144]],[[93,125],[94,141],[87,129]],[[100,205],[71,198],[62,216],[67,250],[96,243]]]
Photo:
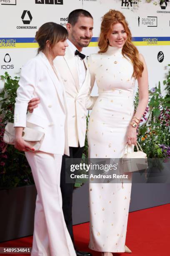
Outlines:
[[[88,249],[89,223],[74,226],[76,246]],[[115,253],[115,256],[168,256],[170,255],[170,204],[130,212],[126,245],[132,253]],[[31,247],[32,236],[0,243],[0,247]],[[93,256],[100,253],[91,251]],[[7,255],[7,254],[6,254]],[[8,254],[18,256],[18,254]],[[29,255],[29,254],[20,254]],[[62,256],[62,255],[61,255]]]

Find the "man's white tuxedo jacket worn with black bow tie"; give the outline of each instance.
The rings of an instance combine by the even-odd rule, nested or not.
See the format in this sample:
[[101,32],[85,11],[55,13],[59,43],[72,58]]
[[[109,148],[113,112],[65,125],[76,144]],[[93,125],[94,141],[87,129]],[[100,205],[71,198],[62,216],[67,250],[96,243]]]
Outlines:
[[72,147],[85,145],[86,115],[87,109],[92,109],[97,97],[90,96],[90,72],[85,59],[83,60],[87,68],[85,81],[79,86],[79,77],[75,56],[69,46],[66,48],[65,56],[56,57],[54,65],[65,87],[67,99],[67,119],[68,119],[68,144]]

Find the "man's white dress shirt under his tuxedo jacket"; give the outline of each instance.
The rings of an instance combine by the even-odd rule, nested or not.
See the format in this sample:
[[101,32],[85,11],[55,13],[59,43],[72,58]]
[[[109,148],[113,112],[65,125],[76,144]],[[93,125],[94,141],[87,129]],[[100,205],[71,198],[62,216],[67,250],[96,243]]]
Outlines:
[[[71,51],[75,54],[75,51],[78,49],[70,42],[70,40],[67,39],[67,44],[70,46]],[[85,81],[86,76],[86,67],[84,64],[84,61],[80,58],[80,56],[75,56],[76,65],[77,65],[77,71],[78,71],[78,78],[79,78],[79,85],[82,86],[83,82]]]

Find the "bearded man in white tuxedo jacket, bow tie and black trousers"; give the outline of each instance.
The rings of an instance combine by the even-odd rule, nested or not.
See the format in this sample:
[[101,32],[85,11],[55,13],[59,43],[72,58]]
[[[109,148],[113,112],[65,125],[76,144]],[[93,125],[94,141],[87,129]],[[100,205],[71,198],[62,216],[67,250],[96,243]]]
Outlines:
[[[87,47],[92,38],[92,15],[82,9],[73,10],[68,16],[67,31],[69,37],[65,56],[54,60],[55,68],[59,72],[65,86],[68,109],[68,143],[70,158],[81,158],[85,145],[86,114],[91,109],[97,97],[91,97],[90,72],[85,55],[81,54],[83,47]],[[38,106],[39,99],[32,99],[29,111]],[[74,243],[72,232],[72,194],[74,184],[65,183],[65,158],[62,157],[60,187],[62,192],[62,209],[65,222]],[[76,251],[77,256],[90,256],[90,253]]]

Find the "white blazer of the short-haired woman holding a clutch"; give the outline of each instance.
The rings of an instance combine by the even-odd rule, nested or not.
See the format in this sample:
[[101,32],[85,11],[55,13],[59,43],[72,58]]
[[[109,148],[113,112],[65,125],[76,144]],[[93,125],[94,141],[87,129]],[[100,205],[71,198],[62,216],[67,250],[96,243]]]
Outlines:
[[[23,66],[19,85],[14,126],[43,131],[45,138],[40,151],[69,155],[65,90],[45,54],[40,52]],[[33,97],[39,97],[40,104],[27,114],[28,102]]]

